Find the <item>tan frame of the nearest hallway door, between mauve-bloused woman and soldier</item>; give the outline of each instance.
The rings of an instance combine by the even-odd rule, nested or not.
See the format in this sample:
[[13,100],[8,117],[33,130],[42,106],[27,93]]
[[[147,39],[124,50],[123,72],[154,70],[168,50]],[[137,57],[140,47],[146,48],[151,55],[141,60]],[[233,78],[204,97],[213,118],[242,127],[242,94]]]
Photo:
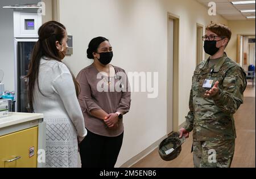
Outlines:
[[[180,17],[178,15],[172,14],[171,12],[167,13],[167,34],[168,34],[168,22],[169,19],[174,20],[174,62],[173,62],[173,85],[172,85],[172,94],[169,92],[170,89],[168,87],[168,82],[170,81],[170,76],[168,74],[171,73],[168,66],[170,65],[169,57],[168,57],[168,38],[167,38],[167,131],[168,125],[170,124],[170,118],[172,117],[172,131],[178,131],[179,129],[179,24]],[[168,99],[172,95],[172,114],[170,112],[169,107],[170,103],[168,103]],[[168,135],[168,134],[167,134]]]

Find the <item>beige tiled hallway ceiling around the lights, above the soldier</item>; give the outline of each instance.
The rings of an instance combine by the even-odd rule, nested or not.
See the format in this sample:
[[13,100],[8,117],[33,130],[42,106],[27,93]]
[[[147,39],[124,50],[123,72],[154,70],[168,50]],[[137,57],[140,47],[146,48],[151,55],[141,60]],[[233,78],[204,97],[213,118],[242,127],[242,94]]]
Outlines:
[[[215,2],[217,14],[223,16],[226,20],[246,20],[246,16],[255,16],[255,12],[241,12],[240,10],[255,10],[255,4],[233,5],[233,1],[246,0],[197,0],[204,6],[208,7],[209,2]],[[209,8],[209,7],[208,7]],[[255,19],[254,19],[255,20]]]

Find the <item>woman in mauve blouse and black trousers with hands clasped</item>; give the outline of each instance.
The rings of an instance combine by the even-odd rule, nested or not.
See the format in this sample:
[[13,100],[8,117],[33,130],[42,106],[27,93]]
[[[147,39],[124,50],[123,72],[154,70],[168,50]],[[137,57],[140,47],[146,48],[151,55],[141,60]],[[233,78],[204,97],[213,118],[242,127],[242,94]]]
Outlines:
[[105,37],[90,41],[92,65],[77,75],[79,103],[88,134],[80,143],[82,168],[114,168],[123,140],[123,115],[129,112],[131,93],[125,70],[110,65],[112,46]]

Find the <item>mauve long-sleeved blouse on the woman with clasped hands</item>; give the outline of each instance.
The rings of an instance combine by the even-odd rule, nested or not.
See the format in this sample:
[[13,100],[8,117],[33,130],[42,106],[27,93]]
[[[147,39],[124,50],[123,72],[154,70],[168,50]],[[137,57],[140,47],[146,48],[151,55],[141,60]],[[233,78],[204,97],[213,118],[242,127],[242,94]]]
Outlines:
[[123,120],[116,129],[109,129],[105,122],[90,114],[91,110],[102,109],[106,113],[129,112],[131,93],[125,70],[115,67],[115,76],[108,78],[92,65],[82,69],[77,75],[81,92],[79,103],[84,115],[85,127],[94,134],[117,137],[123,133]]

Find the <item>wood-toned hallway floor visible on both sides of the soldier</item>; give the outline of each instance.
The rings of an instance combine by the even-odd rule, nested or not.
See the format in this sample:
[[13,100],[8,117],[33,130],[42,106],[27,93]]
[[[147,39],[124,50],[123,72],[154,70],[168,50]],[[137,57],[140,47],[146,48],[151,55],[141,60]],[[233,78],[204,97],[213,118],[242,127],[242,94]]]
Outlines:
[[[232,168],[255,168],[255,86],[249,85],[244,93],[244,104],[234,114],[236,121],[236,147]],[[164,161],[158,154],[158,148],[144,157],[132,168],[191,168],[192,133],[182,146],[180,155],[172,161]]]

